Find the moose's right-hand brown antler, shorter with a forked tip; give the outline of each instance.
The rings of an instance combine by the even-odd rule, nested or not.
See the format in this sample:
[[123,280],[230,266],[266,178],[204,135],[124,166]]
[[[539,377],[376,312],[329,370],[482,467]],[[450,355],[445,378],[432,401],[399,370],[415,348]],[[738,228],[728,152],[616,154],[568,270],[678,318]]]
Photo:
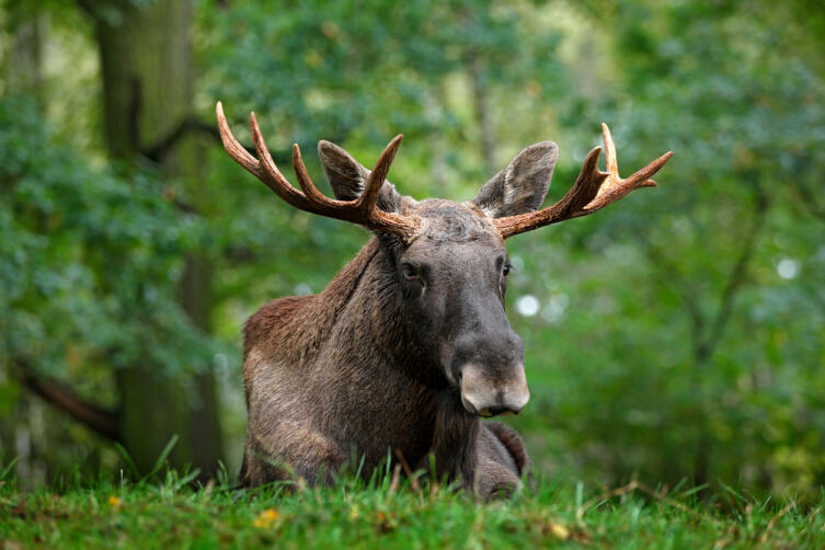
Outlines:
[[506,239],[565,219],[587,216],[610,203],[615,203],[631,191],[656,185],[656,182],[651,180],[650,176],[665,165],[667,159],[673,156],[673,151],[667,151],[630,177],[622,180],[619,176],[619,165],[616,161],[616,146],[606,124],[601,124],[601,135],[605,139],[607,172],[601,172],[598,169],[601,148],[596,147],[587,153],[576,182],[561,200],[539,211],[495,218],[493,224],[502,238]]

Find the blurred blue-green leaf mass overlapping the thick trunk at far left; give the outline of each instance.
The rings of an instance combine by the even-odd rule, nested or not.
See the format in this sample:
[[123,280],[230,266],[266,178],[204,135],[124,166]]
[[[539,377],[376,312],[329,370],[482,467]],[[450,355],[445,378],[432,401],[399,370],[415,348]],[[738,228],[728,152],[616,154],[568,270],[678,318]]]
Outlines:
[[168,369],[206,360],[208,341],[165,299],[198,227],[163,182],[89,169],[22,99],[0,102],[0,149],[3,354],[50,374],[144,354]]

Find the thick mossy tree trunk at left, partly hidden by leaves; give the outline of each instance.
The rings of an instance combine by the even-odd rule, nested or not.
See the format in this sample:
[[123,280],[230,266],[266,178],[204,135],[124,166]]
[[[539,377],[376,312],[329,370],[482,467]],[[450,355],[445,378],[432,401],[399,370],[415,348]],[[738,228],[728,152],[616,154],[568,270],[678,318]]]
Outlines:
[[[191,115],[192,4],[161,0],[119,13],[117,21],[98,21],[96,31],[106,146],[113,159],[128,165]],[[163,154],[163,173],[196,180],[203,153],[197,139],[182,138]],[[192,255],[181,280],[181,306],[204,331],[210,330],[210,272],[208,261]],[[211,373],[180,380],[153,365],[136,364],[118,373],[117,386],[121,436],[138,469],[150,470],[177,435],[169,456],[172,467],[191,463],[204,475],[215,471],[222,445]]]

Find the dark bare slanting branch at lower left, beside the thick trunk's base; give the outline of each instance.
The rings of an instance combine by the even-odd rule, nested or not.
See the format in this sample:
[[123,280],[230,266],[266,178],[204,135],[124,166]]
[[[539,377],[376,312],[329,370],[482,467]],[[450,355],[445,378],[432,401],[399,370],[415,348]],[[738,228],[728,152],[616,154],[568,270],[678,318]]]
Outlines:
[[116,413],[87,403],[59,382],[39,378],[25,360],[14,359],[14,365],[18,377],[30,391],[60,411],[68,413],[92,432],[114,442],[121,440]]

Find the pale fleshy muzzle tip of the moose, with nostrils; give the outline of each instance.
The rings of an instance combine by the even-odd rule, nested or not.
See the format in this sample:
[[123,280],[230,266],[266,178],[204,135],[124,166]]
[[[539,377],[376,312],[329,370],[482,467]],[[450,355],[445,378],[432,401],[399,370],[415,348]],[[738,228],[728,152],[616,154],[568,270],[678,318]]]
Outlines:
[[461,404],[470,414],[518,414],[530,400],[524,365],[485,369],[475,363],[461,367]]

